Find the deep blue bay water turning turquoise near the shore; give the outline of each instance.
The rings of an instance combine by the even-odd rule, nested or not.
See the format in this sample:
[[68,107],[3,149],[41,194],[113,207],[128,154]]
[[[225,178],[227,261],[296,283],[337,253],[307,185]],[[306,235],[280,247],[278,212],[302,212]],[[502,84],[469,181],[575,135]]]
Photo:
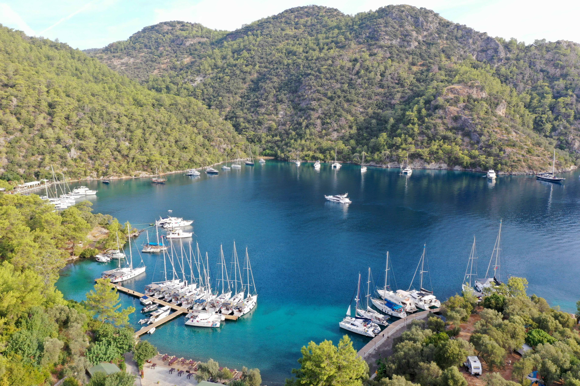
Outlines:
[[[177,318],[145,338],[161,352],[213,358],[238,369],[259,367],[264,383],[282,383],[298,366],[302,345],[324,339],[338,343],[345,333],[338,322],[358,272],[366,281],[371,267],[381,281],[387,250],[399,287],[407,289],[426,243],[433,289],[445,299],[461,290],[473,235],[479,273],[485,274],[500,219],[504,280],[507,274],[527,277],[529,293],[566,311],[574,311],[580,297],[578,171],[565,174],[563,185],[531,176],[501,176],[490,183],[480,174],[460,171],[415,170],[405,178],[398,169],[369,168],[361,175],[355,165],[336,171],[327,164],[315,171],[311,164],[279,161],[202,174],[170,175],[166,185],[145,178],[89,183],[99,190],[91,198],[94,211],[121,222],[148,224],[168,209],[194,219],[193,240],[209,253],[212,267],[220,243],[228,262],[234,239],[240,255],[248,246],[259,293],[255,310],[219,329],[186,327]],[[324,194],[344,192],[353,204],[324,199]],[[162,264],[157,255],[142,255],[146,274],[124,284],[141,292],[161,280]],[[93,278],[107,266],[68,264],[57,286],[67,298],[84,300]],[[137,299],[121,299],[124,306],[140,310]],[[140,313],[131,317],[136,329],[140,318]],[[357,349],[368,341],[350,336]]]

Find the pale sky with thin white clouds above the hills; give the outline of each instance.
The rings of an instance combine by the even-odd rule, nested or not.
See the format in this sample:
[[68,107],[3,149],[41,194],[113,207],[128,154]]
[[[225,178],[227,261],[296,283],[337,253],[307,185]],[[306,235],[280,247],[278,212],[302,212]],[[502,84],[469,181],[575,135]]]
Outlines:
[[59,38],[79,48],[103,47],[124,40],[147,25],[183,20],[220,30],[235,30],[242,24],[295,6],[332,6],[354,14],[381,6],[408,3],[433,9],[446,19],[466,24],[491,36],[580,42],[578,1],[515,0],[0,0],[0,23],[28,35]]

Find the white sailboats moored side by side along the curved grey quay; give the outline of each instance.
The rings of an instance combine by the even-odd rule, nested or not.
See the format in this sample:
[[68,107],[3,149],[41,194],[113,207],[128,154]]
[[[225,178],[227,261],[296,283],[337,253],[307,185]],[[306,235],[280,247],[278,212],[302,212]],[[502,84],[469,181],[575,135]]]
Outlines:
[[[374,337],[380,332],[380,325],[389,325],[389,317],[405,318],[419,308],[430,310],[440,307],[441,302],[433,295],[433,291],[429,291],[423,286],[423,277],[426,273],[429,274],[429,263],[427,262],[426,248],[423,246],[423,254],[407,291],[393,289],[390,281],[394,280],[394,275],[389,261],[389,252],[387,252],[384,285],[382,287],[375,286],[369,268],[366,303],[363,306],[364,302],[361,302],[361,275],[358,274],[358,285],[354,297],[354,317],[351,315],[351,304],[349,304],[346,317],[339,323],[340,328]],[[418,278],[419,289],[414,288],[415,278]]]

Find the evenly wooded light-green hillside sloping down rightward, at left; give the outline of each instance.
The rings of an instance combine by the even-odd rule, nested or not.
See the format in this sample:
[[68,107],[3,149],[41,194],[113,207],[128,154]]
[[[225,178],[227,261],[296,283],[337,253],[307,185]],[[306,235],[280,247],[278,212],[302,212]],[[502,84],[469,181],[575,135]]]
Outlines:
[[[147,90],[66,44],[0,26],[0,168],[8,178],[183,170],[245,143],[194,98]],[[4,177],[3,177],[4,178]]]

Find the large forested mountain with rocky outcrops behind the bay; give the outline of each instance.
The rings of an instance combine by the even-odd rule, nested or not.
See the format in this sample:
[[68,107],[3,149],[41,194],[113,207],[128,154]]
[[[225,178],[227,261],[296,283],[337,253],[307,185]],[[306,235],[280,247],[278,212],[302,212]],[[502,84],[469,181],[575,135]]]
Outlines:
[[88,50],[216,109],[264,155],[503,172],[580,163],[576,43],[491,38],[412,6],[286,10],[233,32],[168,21]]

